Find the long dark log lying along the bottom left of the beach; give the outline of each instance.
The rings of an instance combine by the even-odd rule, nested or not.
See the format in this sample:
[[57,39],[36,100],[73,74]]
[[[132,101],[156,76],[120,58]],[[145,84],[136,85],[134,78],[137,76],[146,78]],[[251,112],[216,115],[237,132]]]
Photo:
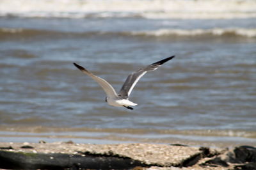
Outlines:
[[146,165],[131,158],[106,155],[0,151],[0,167],[4,169],[132,169],[136,166]]

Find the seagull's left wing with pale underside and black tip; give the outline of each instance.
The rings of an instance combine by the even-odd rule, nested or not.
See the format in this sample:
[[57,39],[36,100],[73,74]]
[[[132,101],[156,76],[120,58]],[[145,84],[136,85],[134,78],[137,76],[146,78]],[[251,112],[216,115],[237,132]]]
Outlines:
[[116,97],[116,91],[115,89],[104,79],[94,75],[92,72],[89,72],[88,70],[86,70],[85,68],[83,68],[83,66],[79,66],[76,63],[73,63],[79,70],[81,70],[81,72],[89,75],[90,77],[92,77],[93,80],[95,80],[96,82],[98,82],[98,84],[104,89],[105,93],[107,94],[108,97]]

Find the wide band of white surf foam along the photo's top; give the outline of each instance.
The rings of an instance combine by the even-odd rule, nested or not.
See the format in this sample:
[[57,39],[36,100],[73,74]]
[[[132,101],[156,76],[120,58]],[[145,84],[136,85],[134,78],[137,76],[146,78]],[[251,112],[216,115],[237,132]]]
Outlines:
[[256,17],[255,0],[1,0],[1,15],[233,19]]

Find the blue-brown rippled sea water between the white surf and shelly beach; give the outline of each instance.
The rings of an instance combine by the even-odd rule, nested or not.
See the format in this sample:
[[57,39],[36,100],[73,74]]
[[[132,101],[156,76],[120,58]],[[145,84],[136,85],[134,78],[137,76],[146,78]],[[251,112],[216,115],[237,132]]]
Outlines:
[[[126,15],[56,9],[55,15],[1,10],[0,141],[255,143],[253,12],[177,19],[170,12],[156,18],[127,9]],[[133,111],[106,104],[104,91],[72,65],[118,91],[129,73],[173,55],[138,82]]]

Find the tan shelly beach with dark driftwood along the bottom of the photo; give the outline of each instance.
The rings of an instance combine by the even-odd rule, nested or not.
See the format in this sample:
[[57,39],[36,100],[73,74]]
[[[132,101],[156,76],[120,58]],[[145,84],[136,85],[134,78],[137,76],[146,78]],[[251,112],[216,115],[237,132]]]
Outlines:
[[252,157],[251,162],[244,158],[248,151],[256,155],[253,146],[206,148],[182,144],[80,144],[72,141],[0,143],[0,168],[42,169],[47,164],[47,169],[54,169],[72,168],[76,164],[81,169],[235,169],[256,164],[256,157]]

